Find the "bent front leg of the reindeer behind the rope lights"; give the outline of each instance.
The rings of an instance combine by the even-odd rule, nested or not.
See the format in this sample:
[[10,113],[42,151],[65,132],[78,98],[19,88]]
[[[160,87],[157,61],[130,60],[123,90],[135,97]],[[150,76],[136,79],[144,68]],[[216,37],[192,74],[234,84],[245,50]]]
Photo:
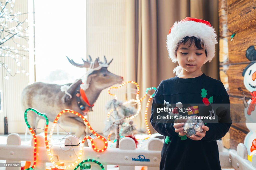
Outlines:
[[[86,125],[83,122],[75,119],[74,117],[63,116],[61,117],[61,119],[59,119],[59,123],[62,125],[68,125],[72,127],[78,126],[78,129],[74,134],[74,136],[78,138],[80,137],[84,138],[84,136],[86,136],[86,133],[85,133]],[[88,146],[87,140],[84,142],[84,146]]]

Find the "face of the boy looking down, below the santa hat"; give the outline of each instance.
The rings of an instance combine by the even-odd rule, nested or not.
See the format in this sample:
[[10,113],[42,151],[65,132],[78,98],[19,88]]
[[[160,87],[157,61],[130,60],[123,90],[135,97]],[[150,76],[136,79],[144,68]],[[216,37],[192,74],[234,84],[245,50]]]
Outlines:
[[177,60],[179,65],[183,68],[184,73],[200,73],[201,67],[204,65],[206,54],[205,48],[198,49],[194,44],[182,43],[179,45],[177,51]]

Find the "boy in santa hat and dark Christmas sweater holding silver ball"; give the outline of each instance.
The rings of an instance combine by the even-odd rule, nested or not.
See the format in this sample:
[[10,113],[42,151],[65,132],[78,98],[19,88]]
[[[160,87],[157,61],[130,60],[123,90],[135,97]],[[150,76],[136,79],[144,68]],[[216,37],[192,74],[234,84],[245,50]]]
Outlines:
[[[179,103],[179,107],[182,107],[181,103],[204,103],[206,106],[209,103],[229,103],[223,84],[201,71],[202,65],[214,58],[215,44],[217,35],[208,21],[187,17],[175,22],[167,36],[167,48],[169,58],[173,62],[178,61],[179,66],[174,69],[175,77],[159,84],[153,104]],[[206,96],[202,94],[203,91]],[[160,169],[221,169],[216,141],[225,136],[231,123],[207,123],[202,126],[202,133],[197,132],[189,137],[183,132],[183,122],[157,122],[153,116],[153,104],[151,124],[165,136]],[[171,114],[175,115],[173,112]],[[184,140],[184,137],[187,138]]]

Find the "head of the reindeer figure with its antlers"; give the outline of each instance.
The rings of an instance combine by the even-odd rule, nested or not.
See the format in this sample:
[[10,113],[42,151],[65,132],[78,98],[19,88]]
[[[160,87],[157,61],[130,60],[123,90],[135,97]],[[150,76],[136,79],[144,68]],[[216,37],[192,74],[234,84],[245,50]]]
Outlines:
[[101,62],[99,57],[93,62],[91,56],[89,56],[89,59],[87,58],[86,61],[83,58],[82,60],[83,64],[79,64],[68,58],[68,61],[73,66],[93,69],[93,71],[87,76],[87,83],[90,84],[90,86],[102,90],[114,84],[121,84],[123,82],[122,76],[115,75],[107,69],[113,59],[107,62],[106,57],[104,56],[104,62]]

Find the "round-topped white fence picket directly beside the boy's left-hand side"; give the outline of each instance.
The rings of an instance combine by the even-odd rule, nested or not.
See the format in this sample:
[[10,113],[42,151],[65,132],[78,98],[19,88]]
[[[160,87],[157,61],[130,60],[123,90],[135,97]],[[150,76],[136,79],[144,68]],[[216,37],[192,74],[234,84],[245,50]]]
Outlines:
[[[163,148],[163,141],[158,138],[151,139],[147,145],[147,150],[149,150],[149,151],[161,151],[162,148]],[[155,155],[155,157],[153,158],[152,161],[158,162],[159,163],[158,167],[147,167],[147,170],[158,170],[160,161],[161,161],[161,155],[159,155],[159,156]]]

